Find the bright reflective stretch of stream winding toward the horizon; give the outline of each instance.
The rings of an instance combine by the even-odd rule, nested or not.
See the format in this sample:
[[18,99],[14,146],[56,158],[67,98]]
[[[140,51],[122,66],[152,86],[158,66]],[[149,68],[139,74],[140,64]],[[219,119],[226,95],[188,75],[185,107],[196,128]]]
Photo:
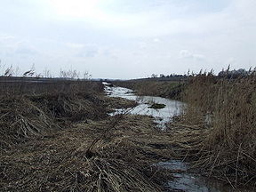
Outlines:
[[[172,116],[180,115],[182,108],[184,107],[184,103],[179,100],[167,100],[153,96],[136,96],[130,89],[108,86],[108,83],[104,84],[106,85],[105,92],[107,92],[110,97],[121,97],[127,100],[136,100],[139,103],[135,108],[116,109],[116,112],[111,115],[123,113],[128,110],[129,113],[134,115],[154,116],[157,126],[163,130],[165,128],[165,124],[172,121]],[[165,107],[159,109],[149,108],[153,103],[164,104]]]

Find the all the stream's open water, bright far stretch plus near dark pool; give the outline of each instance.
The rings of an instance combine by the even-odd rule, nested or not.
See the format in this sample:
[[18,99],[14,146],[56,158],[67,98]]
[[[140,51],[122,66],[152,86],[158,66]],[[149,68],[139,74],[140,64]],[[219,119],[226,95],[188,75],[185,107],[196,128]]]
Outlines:
[[[178,100],[167,100],[160,97],[151,96],[136,96],[132,90],[124,87],[105,85],[105,92],[109,97],[121,97],[128,100],[136,100],[139,105],[136,108],[129,108],[128,111],[134,115],[148,115],[154,116],[155,122],[162,130],[165,129],[165,123],[172,121],[172,116],[182,113],[184,103]],[[152,103],[164,104],[165,107],[161,109],[148,108]],[[111,115],[123,113],[127,109],[116,109],[116,112]],[[253,189],[234,189],[230,185],[220,182],[220,180],[212,180],[201,176],[199,173],[188,172],[188,164],[180,160],[171,160],[168,162],[160,162],[156,166],[169,169],[173,173],[174,180],[166,183],[166,187],[170,191],[177,192],[252,192]]]

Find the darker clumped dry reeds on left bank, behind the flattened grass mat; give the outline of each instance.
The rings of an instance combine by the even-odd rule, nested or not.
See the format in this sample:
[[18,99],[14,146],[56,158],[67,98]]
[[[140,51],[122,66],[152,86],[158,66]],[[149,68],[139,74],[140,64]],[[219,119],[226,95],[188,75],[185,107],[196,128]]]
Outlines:
[[61,124],[107,116],[104,100],[100,98],[102,84],[49,81],[1,81],[1,151],[33,136],[58,130]]

